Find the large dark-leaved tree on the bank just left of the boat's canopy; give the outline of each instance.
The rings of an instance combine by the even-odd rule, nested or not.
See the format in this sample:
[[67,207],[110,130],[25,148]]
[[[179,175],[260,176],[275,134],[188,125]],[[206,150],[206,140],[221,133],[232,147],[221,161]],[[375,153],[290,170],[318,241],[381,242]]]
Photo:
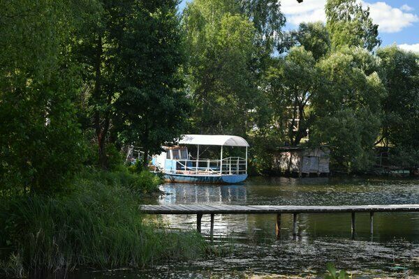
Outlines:
[[179,133],[187,114],[177,74],[182,63],[177,2],[100,3],[79,33],[75,52],[84,65],[99,165],[106,169],[107,141],[119,134],[124,143],[156,149]]

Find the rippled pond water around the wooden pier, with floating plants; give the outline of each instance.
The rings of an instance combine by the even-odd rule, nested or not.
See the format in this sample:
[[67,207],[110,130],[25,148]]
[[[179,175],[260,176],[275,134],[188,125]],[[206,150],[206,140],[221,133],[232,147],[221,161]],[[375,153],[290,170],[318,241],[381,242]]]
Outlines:
[[[166,183],[154,204],[346,205],[418,204],[416,179],[252,178],[242,185]],[[162,216],[172,229],[194,229],[196,216]],[[275,215],[219,215],[212,241],[227,246],[221,257],[167,262],[145,271],[104,271],[86,278],[323,278],[327,262],[356,278],[419,278],[419,213],[357,213],[355,239],[351,214],[300,214],[298,235],[292,215],[282,215],[279,237]],[[210,240],[210,216],[202,232]],[[233,243],[233,244],[231,244]],[[84,274],[87,276],[87,274]]]

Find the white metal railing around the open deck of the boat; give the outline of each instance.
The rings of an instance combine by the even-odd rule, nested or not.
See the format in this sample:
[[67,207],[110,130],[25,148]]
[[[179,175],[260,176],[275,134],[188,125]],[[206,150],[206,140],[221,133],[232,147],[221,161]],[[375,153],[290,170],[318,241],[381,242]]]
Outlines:
[[222,160],[214,159],[177,159],[176,170],[173,173],[179,174],[247,174],[246,159],[241,157],[228,157]]

